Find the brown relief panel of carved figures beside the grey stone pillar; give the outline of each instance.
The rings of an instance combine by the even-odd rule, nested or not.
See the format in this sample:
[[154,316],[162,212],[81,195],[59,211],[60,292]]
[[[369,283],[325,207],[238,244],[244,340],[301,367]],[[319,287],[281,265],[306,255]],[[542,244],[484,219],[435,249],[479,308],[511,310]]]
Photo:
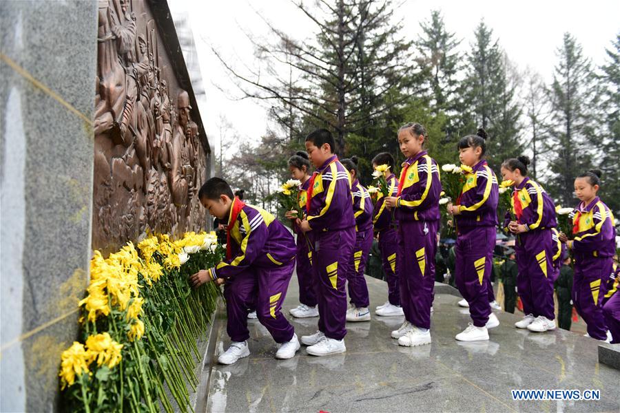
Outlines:
[[99,0],[92,244],[104,252],[205,228],[209,146],[161,39],[147,2]]

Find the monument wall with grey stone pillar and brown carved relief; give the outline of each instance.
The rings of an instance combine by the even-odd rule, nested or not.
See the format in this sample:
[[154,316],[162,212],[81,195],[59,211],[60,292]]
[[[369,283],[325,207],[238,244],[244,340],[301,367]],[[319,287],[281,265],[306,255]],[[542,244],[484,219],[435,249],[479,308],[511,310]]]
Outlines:
[[205,225],[167,3],[0,1],[0,130],[0,411],[53,411],[92,250]]

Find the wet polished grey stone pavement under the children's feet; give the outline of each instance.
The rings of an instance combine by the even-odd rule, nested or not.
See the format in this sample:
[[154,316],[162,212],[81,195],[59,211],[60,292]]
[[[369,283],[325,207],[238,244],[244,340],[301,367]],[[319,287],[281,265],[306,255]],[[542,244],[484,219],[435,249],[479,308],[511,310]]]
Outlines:
[[[284,311],[298,334],[316,331],[315,319],[293,319],[296,277]],[[371,306],[386,301],[386,284],[366,277]],[[573,332],[518,330],[519,317],[497,313],[490,341],[463,343],[454,336],[469,321],[459,297],[435,295],[430,346],[405,348],[390,338],[404,317],[347,323],[347,352],[290,360],[273,358],[267,330],[250,321],[250,357],[215,364],[207,412],[620,412],[620,372],[597,361],[598,341]],[[220,311],[216,353],[229,344]],[[513,401],[513,389],[600,390],[599,401]]]

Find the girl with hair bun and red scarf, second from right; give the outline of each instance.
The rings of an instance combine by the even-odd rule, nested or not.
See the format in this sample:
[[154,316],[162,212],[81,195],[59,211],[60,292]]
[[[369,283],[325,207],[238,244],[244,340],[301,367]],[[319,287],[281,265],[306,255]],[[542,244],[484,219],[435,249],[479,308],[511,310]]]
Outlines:
[[[517,328],[544,332],[555,330],[553,282],[557,241],[555,205],[537,182],[528,178],[527,156],[510,158],[502,163],[502,177],[514,182],[513,209],[517,220],[506,213],[504,229],[517,235],[517,293],[523,303],[525,317],[515,323]],[[557,240],[557,237],[555,237]],[[560,248],[561,252],[561,248]]]

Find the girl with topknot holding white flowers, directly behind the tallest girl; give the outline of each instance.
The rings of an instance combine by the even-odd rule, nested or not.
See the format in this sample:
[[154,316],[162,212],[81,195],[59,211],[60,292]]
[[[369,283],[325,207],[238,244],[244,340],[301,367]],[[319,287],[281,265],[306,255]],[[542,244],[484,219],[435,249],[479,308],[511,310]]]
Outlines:
[[469,304],[473,324],[455,338],[459,341],[488,340],[487,328],[499,325],[488,301],[499,185],[484,159],[484,129],[461,138],[458,148],[466,172],[465,184],[455,204],[448,204],[448,213],[454,215],[457,223],[455,282]]

